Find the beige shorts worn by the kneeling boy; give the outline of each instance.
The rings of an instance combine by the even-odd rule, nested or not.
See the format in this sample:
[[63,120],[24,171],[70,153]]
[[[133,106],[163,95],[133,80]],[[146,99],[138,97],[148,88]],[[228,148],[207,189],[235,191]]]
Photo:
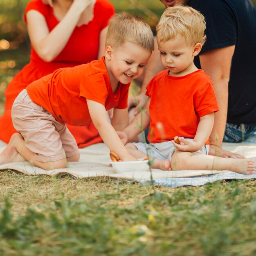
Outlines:
[[14,128],[25,140],[25,146],[40,162],[54,162],[79,154],[76,140],[65,124],[34,103],[26,90],[13,103],[11,117]]

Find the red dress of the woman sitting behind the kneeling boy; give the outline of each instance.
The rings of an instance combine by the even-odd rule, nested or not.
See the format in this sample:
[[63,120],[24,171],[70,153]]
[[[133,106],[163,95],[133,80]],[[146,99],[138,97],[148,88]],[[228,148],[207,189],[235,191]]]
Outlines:
[[[53,14],[53,9],[42,0],[32,0],[27,4],[26,13],[29,10],[39,11],[45,17],[49,31],[57,24],[58,20]],[[99,48],[100,31],[108,25],[108,20],[114,14],[113,5],[107,0],[96,0],[94,5],[94,18],[86,25],[76,27],[63,51],[50,63],[43,61],[34,51],[31,45],[29,64],[12,79],[4,92],[5,111],[0,117],[0,139],[9,142],[11,135],[17,132],[11,120],[11,107],[18,94],[33,81],[54,72],[61,67],[74,67],[96,60]],[[25,18],[26,21],[26,18]],[[94,86],[94,85],[92,85]],[[87,126],[69,126],[70,132],[76,139],[79,148],[102,142],[97,129],[93,124]]]

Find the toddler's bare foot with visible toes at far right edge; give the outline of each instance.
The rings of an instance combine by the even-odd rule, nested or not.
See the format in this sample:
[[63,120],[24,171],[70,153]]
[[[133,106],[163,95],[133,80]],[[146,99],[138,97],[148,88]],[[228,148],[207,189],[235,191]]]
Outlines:
[[234,159],[230,171],[245,175],[255,174],[254,160],[251,159]]

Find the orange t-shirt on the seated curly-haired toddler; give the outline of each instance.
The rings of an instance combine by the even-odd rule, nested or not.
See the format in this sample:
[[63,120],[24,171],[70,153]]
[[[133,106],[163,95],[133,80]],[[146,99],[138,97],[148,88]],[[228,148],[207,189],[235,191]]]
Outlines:
[[219,110],[211,79],[202,70],[180,77],[163,70],[147,85],[146,95],[151,98],[151,143],[170,141],[175,136],[193,139],[199,118]]

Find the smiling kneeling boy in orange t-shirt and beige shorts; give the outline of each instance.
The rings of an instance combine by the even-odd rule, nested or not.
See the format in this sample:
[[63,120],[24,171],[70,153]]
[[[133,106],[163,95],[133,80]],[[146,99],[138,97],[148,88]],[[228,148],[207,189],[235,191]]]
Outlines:
[[[153,33],[141,17],[114,16],[106,35],[105,57],[58,69],[18,95],[12,119],[19,133],[0,154],[0,164],[27,160],[45,170],[66,168],[67,161],[79,161],[79,150],[65,123],[83,126],[91,122],[122,161],[137,160],[115,129],[128,125],[130,81],[143,73],[153,49]],[[111,108],[112,125],[106,113]]]

